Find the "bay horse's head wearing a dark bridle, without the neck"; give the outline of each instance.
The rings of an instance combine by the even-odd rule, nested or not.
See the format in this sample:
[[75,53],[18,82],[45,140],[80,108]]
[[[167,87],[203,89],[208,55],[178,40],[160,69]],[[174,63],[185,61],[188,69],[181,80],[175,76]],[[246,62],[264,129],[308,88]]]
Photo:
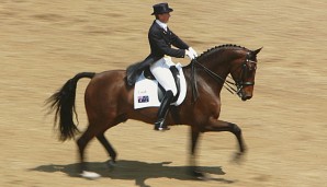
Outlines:
[[257,70],[257,54],[262,49],[243,51],[243,56],[232,63],[230,74],[237,86],[237,95],[247,101],[252,97]]

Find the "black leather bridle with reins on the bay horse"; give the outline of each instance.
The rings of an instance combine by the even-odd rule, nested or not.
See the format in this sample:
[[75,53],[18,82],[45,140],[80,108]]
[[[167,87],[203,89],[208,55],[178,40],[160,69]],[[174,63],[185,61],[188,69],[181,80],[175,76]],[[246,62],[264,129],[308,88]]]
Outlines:
[[[191,68],[192,68],[192,73],[191,73],[191,83],[192,83],[192,94],[193,94],[193,101],[195,102],[198,98],[198,85],[196,85],[196,71],[195,71],[195,65],[200,66],[211,78],[213,78],[215,81],[223,83],[223,86],[230,92],[232,94],[237,94],[240,96],[240,91],[249,85],[255,85],[255,82],[250,82],[250,81],[244,81],[248,74],[249,71],[251,71],[251,67],[252,66],[248,66],[248,65],[255,65],[253,68],[257,68],[257,61],[251,60],[250,59],[250,52],[247,52],[246,58],[244,60],[243,63],[240,63],[235,70],[233,70],[229,74],[233,74],[233,72],[237,71],[239,68],[241,68],[240,70],[240,74],[239,74],[239,79],[234,80],[230,75],[228,75],[230,79],[234,80],[234,82],[230,82],[226,79],[223,79],[221,75],[218,75],[217,73],[213,72],[212,70],[210,70],[208,68],[206,68],[205,66],[203,66],[202,63],[200,63],[196,59],[193,59],[191,61]],[[234,87],[236,86],[236,89]]]

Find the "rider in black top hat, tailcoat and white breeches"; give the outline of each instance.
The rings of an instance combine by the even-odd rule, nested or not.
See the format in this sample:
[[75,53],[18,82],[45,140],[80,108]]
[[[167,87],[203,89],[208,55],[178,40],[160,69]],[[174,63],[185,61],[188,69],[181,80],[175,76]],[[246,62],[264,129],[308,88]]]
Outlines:
[[[169,8],[168,3],[158,3],[153,5],[153,8],[154,13],[151,15],[155,15],[156,20],[148,32],[151,52],[144,61],[127,68],[127,83],[133,85],[139,73],[149,66],[156,80],[166,90],[158,110],[158,120],[155,122],[155,130],[169,130],[165,125],[165,117],[172,98],[177,95],[177,87],[173,75],[169,70],[169,67],[174,63],[171,61],[171,58],[165,58],[165,56],[176,58],[184,58],[188,56],[192,60],[196,58],[198,55],[192,47],[189,47],[189,45],[168,28],[167,23],[170,17],[170,12],[173,11]],[[171,45],[177,48],[171,48]]]

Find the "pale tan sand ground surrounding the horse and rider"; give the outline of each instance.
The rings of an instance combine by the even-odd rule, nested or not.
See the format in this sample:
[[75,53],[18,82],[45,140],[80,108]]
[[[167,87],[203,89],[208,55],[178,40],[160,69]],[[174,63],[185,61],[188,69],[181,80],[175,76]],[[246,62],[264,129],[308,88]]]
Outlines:
[[[44,101],[81,71],[124,69],[149,52],[150,0],[0,1],[0,186],[323,187],[327,184],[327,2],[169,1],[169,26],[199,54],[222,44],[258,56],[253,98],[223,91],[221,119],[238,124],[248,153],[230,162],[235,137],[201,138],[199,164],[211,177],[190,178],[189,128],[158,133],[128,120],[105,136],[119,152],[114,170],[98,141],[87,149],[97,180],[77,177],[77,147],[57,141]],[[187,59],[176,59],[188,65]],[[82,130],[83,92],[77,90]]]

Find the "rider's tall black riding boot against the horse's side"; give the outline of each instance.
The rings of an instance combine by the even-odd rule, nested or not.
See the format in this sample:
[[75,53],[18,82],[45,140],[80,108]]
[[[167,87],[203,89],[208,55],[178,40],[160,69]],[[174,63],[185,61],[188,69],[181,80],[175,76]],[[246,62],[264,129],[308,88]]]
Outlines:
[[173,94],[171,91],[167,91],[162,98],[160,108],[158,110],[158,120],[155,122],[155,130],[169,130],[169,128],[165,125],[165,118],[167,112],[169,109],[170,103],[172,102]]

